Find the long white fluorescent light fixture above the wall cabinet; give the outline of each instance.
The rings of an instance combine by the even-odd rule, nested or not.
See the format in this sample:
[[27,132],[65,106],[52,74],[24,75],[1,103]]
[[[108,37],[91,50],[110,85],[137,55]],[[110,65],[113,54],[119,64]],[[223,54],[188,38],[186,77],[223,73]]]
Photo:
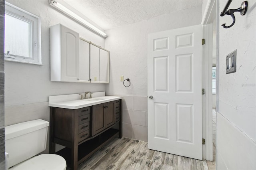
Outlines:
[[53,6],[54,8],[57,8],[58,10],[60,10],[61,12],[65,13],[66,15],[70,16],[71,18],[73,18],[74,20],[80,22],[81,24],[83,24],[84,26],[86,26],[87,28],[90,28],[91,30],[93,30],[94,32],[100,34],[102,37],[106,38],[107,34],[105,32],[103,32],[102,30],[98,29],[96,26],[92,25],[90,22],[84,20],[84,18],[78,16],[77,14],[75,14],[74,12],[72,12],[71,10],[69,10],[68,8],[66,8],[65,6],[63,6],[62,4],[60,4],[60,2],[56,2],[55,0],[50,0],[49,3],[51,6]]

